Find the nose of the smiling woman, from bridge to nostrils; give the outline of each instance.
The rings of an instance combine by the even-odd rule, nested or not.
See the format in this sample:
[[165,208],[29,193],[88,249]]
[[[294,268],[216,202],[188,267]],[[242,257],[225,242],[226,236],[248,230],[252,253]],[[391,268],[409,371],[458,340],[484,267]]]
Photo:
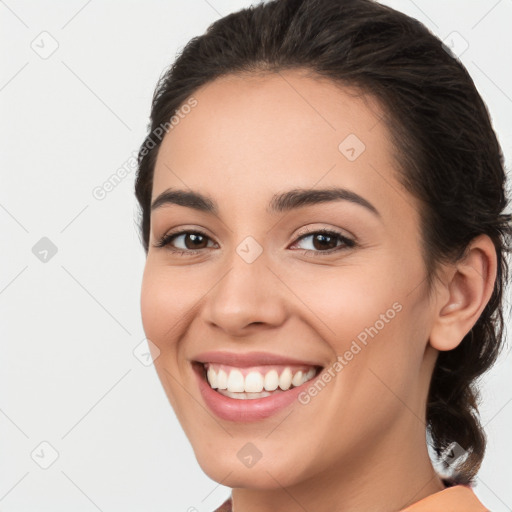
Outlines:
[[286,287],[264,253],[247,262],[234,252],[207,294],[202,316],[227,335],[247,335],[255,326],[277,327],[286,319]]

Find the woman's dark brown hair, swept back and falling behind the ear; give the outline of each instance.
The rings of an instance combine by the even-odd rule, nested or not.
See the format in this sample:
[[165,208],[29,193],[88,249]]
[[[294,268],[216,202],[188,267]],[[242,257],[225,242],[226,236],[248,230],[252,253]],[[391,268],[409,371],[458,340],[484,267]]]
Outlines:
[[465,67],[419,21],[372,0],[273,0],[229,14],[190,40],[158,82],[150,132],[139,151],[135,193],[144,249],[161,143],[155,132],[217,77],[284,69],[308,70],[379,101],[398,179],[423,205],[429,290],[437,265],[458,261],[476,236],[484,233],[494,243],[492,296],[460,345],[440,352],[426,411],[438,455],[452,442],[466,450],[455,480],[470,483],[486,445],[476,382],[504,341],[511,216],[504,213],[504,159],[486,105]]

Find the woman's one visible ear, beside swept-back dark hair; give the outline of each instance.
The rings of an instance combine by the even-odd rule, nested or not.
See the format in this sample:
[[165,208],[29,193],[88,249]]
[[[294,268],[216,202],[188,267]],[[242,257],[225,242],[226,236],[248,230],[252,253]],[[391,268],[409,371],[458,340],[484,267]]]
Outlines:
[[462,261],[449,266],[436,293],[430,345],[452,350],[478,321],[491,298],[497,272],[496,249],[487,235],[469,245]]

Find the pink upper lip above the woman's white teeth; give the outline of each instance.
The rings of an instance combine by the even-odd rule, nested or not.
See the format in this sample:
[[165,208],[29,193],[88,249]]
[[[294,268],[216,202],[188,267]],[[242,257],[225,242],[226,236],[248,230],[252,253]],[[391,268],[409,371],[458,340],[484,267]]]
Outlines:
[[212,351],[203,352],[192,358],[198,363],[217,363],[227,366],[236,366],[238,368],[247,368],[250,366],[262,365],[304,365],[304,366],[322,366],[311,361],[304,361],[270,352],[228,352],[228,351]]

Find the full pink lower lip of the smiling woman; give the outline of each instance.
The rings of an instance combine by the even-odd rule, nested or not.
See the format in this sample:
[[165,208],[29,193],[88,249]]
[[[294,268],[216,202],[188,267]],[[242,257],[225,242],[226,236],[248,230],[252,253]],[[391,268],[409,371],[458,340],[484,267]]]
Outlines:
[[194,364],[193,366],[199,382],[199,391],[210,410],[223,420],[239,423],[263,420],[276,414],[295,402],[301,391],[310,386],[316,378],[313,377],[304,384],[282,393],[264,398],[240,400],[221,395],[212,389],[203,376],[202,365]]

